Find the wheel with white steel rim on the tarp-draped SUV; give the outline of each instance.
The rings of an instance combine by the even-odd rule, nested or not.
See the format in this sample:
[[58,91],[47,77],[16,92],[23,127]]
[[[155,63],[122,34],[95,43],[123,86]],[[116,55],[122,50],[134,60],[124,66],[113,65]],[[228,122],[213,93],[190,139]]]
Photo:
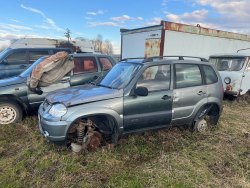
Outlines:
[[23,111],[13,102],[0,102],[0,125],[16,123],[22,120]]

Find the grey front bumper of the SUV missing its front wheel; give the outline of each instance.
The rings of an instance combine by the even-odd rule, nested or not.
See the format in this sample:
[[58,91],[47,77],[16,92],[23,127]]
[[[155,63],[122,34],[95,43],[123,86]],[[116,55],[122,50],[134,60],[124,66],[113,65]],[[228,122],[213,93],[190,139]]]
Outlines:
[[43,117],[46,112],[40,106],[38,111],[38,126],[41,134],[50,141],[65,141],[70,123],[67,121],[53,121]]

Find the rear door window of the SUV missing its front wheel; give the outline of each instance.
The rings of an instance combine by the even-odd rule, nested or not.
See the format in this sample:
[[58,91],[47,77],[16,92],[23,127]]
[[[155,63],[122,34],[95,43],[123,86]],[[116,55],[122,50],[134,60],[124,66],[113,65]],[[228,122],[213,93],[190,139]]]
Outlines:
[[175,71],[176,88],[202,85],[202,77],[198,65],[176,64]]

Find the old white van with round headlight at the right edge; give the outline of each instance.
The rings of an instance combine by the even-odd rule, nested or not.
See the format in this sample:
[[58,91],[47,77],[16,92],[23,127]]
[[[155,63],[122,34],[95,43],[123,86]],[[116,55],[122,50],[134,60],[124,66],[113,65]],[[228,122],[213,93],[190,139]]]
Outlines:
[[211,55],[209,62],[219,71],[226,95],[237,97],[250,92],[250,53]]

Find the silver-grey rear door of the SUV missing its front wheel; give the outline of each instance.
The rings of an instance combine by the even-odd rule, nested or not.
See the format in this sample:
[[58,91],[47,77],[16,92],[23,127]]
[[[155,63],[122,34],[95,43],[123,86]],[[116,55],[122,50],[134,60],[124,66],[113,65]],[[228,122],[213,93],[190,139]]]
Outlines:
[[175,64],[174,75],[173,123],[185,124],[195,106],[207,102],[207,87],[198,64]]

